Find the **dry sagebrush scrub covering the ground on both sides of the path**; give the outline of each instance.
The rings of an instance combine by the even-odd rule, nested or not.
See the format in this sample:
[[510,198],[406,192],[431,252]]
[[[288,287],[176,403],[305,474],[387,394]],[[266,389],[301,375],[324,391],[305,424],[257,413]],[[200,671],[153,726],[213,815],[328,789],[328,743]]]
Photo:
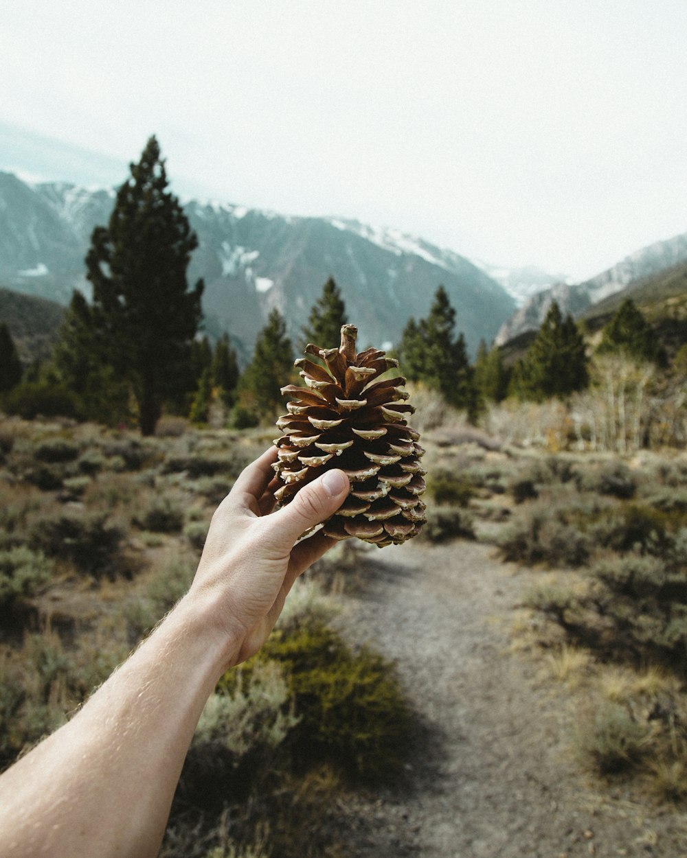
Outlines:
[[[418,393],[428,398],[423,540],[491,541],[540,570],[513,634],[579,700],[581,765],[684,803],[684,453],[578,451],[554,403],[512,415],[529,422],[529,446],[513,434],[498,443]],[[183,594],[212,511],[270,439],[179,421],[147,439],[0,423],[0,764],[64,722]],[[263,652],[217,686],[161,855],[346,854],[345,796],[392,782],[412,731],[393,666],[351,650],[330,625],[361,571],[356,546],[337,547],[295,590]]]

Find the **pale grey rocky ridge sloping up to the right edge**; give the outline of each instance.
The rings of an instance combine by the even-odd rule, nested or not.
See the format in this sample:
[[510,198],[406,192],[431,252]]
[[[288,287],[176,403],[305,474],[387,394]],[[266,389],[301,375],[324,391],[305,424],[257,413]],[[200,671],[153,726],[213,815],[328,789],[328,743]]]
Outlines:
[[579,317],[593,304],[620,292],[630,283],[670,268],[684,259],[687,259],[687,233],[648,245],[591,280],[577,284],[556,283],[533,294],[508,322],[503,323],[495,342],[503,345],[526,331],[537,330],[553,301],[558,303],[564,315],[570,313]]

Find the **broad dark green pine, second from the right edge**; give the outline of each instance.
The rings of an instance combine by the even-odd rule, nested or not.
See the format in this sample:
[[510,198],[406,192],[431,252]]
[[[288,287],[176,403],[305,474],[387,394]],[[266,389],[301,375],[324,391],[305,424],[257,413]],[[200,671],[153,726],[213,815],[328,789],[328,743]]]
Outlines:
[[562,317],[554,301],[524,358],[517,361],[510,390],[520,399],[541,402],[568,396],[589,384],[585,341],[572,316]]

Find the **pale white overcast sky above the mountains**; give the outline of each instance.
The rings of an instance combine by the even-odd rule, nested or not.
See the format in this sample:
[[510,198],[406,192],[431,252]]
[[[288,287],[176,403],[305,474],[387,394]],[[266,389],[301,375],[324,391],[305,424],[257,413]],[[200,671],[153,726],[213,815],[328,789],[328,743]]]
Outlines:
[[579,278],[687,230],[684,0],[0,10],[0,119],[173,187]]

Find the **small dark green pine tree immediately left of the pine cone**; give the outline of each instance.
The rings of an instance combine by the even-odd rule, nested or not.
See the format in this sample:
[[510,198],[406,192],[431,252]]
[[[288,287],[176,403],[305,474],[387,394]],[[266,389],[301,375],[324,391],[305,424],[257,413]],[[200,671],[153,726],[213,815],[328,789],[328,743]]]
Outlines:
[[281,389],[289,384],[293,347],[286,335],[281,313],[274,309],[258,334],[251,363],[240,378],[240,401],[261,418],[277,413],[283,405]]

